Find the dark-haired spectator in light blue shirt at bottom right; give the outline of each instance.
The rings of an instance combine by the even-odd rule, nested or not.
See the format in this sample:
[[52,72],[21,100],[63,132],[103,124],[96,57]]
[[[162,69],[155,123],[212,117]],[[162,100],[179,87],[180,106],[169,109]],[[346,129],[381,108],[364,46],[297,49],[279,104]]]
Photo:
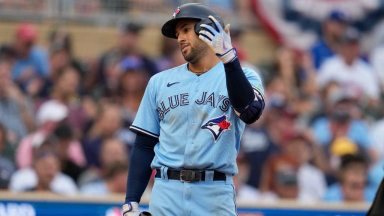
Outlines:
[[367,186],[367,163],[359,155],[345,154],[339,167],[339,182],[330,185],[324,194],[325,201],[367,201],[371,202],[374,189]]

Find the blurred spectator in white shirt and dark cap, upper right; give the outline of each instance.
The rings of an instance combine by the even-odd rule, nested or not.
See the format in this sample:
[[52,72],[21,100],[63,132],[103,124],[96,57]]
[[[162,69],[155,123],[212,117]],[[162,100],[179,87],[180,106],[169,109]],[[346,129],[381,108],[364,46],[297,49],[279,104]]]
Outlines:
[[320,89],[330,81],[345,87],[357,87],[368,98],[368,106],[375,107],[380,94],[379,82],[372,66],[359,57],[359,39],[357,29],[347,28],[339,39],[337,54],[324,61],[316,82]]

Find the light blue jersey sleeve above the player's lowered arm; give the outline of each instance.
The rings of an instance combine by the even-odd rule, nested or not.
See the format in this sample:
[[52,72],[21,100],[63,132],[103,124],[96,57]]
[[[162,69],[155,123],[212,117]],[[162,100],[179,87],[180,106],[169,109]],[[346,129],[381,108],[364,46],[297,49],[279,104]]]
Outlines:
[[160,135],[159,123],[160,118],[157,112],[153,79],[150,79],[138,107],[136,117],[129,129],[133,132],[140,132],[158,138]]

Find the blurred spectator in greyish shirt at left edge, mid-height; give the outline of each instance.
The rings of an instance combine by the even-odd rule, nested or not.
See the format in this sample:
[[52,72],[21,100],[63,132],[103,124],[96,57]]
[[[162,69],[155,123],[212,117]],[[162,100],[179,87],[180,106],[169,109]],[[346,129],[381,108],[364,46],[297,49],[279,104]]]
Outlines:
[[0,123],[7,130],[8,139],[18,142],[34,128],[28,100],[11,79],[11,62],[0,57]]

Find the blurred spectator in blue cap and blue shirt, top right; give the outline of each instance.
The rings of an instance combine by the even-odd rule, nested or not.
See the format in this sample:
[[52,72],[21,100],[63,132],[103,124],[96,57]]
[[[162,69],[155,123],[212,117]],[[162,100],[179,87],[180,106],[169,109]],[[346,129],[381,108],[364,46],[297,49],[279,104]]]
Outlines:
[[321,24],[320,38],[310,49],[316,69],[320,67],[325,59],[333,56],[338,39],[346,26],[347,18],[341,10],[333,9],[329,12]]

